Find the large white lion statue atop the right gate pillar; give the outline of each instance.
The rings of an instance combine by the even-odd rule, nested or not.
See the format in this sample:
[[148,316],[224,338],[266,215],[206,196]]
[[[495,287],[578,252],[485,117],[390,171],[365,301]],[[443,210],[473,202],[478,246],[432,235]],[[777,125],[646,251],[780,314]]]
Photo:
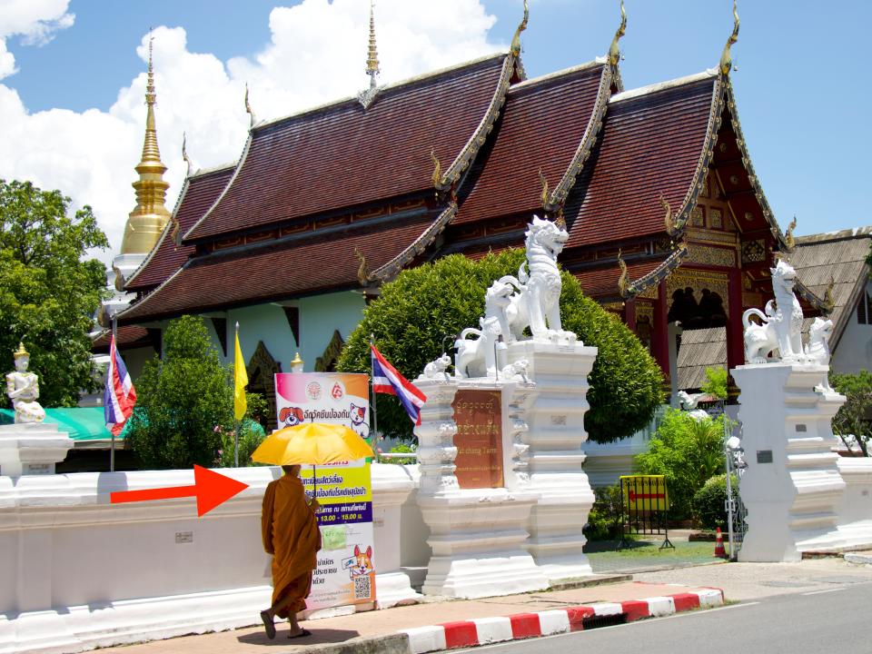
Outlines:
[[[742,314],[745,326],[745,361],[766,363],[768,355],[778,350],[783,362],[799,362],[804,357],[802,351],[802,307],[799,305],[793,286],[797,273],[789,263],[778,261],[772,274],[772,292],[775,303],[766,304],[766,313],[759,309],[748,309]],[[755,324],[749,320],[756,315],[762,321]]]

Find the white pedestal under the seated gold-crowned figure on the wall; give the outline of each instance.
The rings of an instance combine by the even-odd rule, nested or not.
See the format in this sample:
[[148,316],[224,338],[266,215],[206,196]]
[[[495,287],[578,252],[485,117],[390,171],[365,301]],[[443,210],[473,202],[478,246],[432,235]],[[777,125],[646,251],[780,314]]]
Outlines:
[[73,440],[57,425],[25,422],[0,427],[0,476],[54,474]]

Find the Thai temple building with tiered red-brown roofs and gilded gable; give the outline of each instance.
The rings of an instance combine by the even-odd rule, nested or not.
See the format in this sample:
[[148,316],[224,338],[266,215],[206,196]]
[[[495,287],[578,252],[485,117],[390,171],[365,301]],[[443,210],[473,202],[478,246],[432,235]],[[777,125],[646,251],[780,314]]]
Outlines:
[[[538,213],[565,221],[560,263],[638,334],[673,390],[682,330],[721,330],[738,365],[741,314],[763,306],[769,267],[795,240],[739,123],[734,16],[717,67],[626,90],[623,7],[607,54],[567,70],[527,77],[525,7],[508,52],[385,86],[371,15],[365,91],[268,122],[252,114],[238,162],[190,173],[169,222],[149,210],[156,244],[125,275],[136,300],[118,325],[156,338],[201,314],[226,357],[239,321],[250,388],[272,394],[295,352],[332,369],[381,283],[450,253],[521,246]],[[154,126],[151,105],[149,116]],[[798,293],[807,315],[831,308],[801,280]]]

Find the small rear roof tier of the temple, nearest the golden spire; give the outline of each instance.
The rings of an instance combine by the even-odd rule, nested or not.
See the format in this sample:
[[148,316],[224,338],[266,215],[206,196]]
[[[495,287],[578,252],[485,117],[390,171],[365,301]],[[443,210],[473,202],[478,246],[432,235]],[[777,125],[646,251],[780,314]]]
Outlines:
[[[218,199],[218,195],[233,175],[234,168],[235,165],[231,165],[196,173],[184,181],[179,203],[173,212],[173,217],[179,222],[180,234],[191,229],[193,223],[200,220],[203,213],[206,213]],[[193,247],[173,243],[173,229],[173,223],[168,223],[161,240],[149,254],[148,259],[126,283],[124,288],[127,291],[139,292],[154,288],[188,260],[193,253]]]

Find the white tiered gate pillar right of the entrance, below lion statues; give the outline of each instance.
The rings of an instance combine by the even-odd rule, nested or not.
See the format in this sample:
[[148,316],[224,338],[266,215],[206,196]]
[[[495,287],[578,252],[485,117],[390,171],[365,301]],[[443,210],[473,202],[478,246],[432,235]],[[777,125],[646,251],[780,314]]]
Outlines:
[[[740,495],[748,533],[739,559],[797,561],[804,551],[837,550],[837,503],[845,490],[830,420],[845,398],[816,391],[827,366],[758,363],[733,369],[748,469]],[[771,461],[771,462],[768,462]]]

